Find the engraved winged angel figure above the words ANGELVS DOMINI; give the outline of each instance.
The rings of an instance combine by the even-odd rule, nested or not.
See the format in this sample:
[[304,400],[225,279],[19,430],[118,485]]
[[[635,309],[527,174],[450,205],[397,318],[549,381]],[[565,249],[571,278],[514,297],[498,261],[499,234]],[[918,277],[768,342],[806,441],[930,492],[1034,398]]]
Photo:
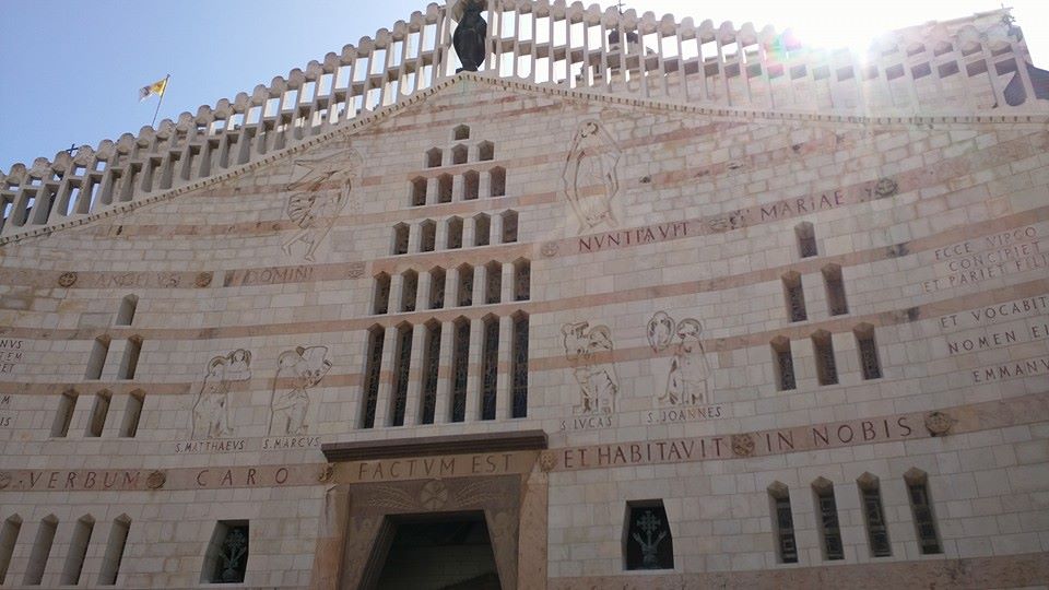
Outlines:
[[[298,229],[282,245],[285,255],[291,256],[292,248],[300,241],[306,246],[303,259],[314,261],[317,247],[331,232],[346,203],[360,199],[352,192],[361,169],[361,154],[352,148],[325,151],[293,163],[292,178],[284,190],[292,193],[286,213]],[[351,209],[356,209],[355,205]]]

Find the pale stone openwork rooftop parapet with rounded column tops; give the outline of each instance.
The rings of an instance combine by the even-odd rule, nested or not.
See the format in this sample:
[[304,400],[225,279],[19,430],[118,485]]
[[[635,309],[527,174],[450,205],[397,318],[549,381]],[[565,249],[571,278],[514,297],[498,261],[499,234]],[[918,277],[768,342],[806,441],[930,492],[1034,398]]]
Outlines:
[[[123,210],[300,144],[455,75],[457,0],[138,135],[0,172],[0,245]],[[1049,111],[1004,10],[904,28],[867,56],[789,31],[640,16],[564,0],[483,0],[482,75],[667,103],[845,116]],[[627,39],[622,44],[618,39]]]

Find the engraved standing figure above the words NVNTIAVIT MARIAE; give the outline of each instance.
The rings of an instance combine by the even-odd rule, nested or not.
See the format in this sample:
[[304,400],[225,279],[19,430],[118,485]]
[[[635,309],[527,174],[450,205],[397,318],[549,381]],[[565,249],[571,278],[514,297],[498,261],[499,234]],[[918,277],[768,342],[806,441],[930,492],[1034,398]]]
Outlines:
[[622,155],[601,122],[586,120],[576,129],[561,176],[565,198],[579,222],[578,234],[602,225],[618,227],[615,197],[620,192],[620,178],[616,168]]

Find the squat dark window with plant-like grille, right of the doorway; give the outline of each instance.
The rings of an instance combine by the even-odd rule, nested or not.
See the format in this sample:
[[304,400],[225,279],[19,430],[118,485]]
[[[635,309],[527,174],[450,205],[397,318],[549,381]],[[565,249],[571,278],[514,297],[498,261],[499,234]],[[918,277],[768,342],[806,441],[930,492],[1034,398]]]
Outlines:
[[623,532],[627,570],[674,568],[674,539],[663,500],[628,502]]

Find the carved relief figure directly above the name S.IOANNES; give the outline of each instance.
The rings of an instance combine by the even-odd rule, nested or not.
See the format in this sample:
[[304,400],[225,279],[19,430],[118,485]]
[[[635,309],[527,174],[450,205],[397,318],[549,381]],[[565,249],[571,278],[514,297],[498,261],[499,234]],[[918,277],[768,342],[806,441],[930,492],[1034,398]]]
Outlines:
[[667,387],[659,397],[667,405],[696,405],[708,403],[710,365],[699,334],[699,320],[685,318],[674,324],[665,311],[657,311],[648,320],[648,343],[652,352],[661,353],[673,346],[673,356],[667,370]]

